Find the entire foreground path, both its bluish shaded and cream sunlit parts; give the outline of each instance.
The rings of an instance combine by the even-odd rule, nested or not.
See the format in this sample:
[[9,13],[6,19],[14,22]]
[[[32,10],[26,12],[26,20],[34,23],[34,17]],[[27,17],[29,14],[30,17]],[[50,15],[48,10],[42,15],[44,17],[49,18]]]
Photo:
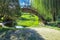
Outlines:
[[60,40],[60,31],[43,27],[0,30],[0,40]]

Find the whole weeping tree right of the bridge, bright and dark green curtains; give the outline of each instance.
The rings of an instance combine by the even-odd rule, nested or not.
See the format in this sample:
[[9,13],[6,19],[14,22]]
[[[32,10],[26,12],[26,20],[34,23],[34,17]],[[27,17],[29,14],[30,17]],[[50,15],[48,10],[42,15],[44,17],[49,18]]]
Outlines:
[[56,17],[60,10],[59,0],[32,0],[32,7],[48,20],[56,21]]

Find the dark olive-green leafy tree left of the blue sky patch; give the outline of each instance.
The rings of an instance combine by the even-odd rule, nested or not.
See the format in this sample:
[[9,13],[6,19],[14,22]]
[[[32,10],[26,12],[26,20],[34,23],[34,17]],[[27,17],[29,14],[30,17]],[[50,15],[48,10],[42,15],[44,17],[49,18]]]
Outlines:
[[0,16],[3,16],[3,22],[15,21],[20,14],[19,0],[0,0]]

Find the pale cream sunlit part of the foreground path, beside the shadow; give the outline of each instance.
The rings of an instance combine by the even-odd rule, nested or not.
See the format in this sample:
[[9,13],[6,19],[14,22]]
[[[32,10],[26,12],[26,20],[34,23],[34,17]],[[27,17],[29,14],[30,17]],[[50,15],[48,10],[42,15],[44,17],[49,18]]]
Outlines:
[[60,31],[50,28],[31,28],[37,31],[45,40],[60,40]]

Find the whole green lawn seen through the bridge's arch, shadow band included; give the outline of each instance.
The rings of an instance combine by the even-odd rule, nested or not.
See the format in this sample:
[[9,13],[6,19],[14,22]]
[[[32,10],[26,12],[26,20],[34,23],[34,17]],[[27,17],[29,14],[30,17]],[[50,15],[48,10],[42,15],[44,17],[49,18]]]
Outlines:
[[39,24],[38,17],[30,13],[23,13],[19,20],[18,26],[37,26]]

